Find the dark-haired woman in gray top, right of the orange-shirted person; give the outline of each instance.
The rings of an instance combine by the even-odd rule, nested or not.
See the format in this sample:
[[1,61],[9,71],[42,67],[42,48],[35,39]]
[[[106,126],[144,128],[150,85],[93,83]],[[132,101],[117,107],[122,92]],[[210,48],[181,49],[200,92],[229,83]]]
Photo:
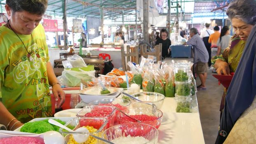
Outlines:
[[228,43],[231,39],[231,35],[228,26],[224,26],[221,29],[221,36],[218,39],[217,42],[217,46],[218,46],[218,50],[217,50],[217,56],[222,54],[224,49],[226,49],[228,47]]

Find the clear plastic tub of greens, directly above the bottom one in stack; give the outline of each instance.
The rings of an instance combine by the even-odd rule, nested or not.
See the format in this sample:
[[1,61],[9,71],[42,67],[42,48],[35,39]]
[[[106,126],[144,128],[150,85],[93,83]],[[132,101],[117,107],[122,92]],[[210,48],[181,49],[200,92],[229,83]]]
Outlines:
[[175,81],[175,95],[189,96],[191,93],[191,80],[186,82]]

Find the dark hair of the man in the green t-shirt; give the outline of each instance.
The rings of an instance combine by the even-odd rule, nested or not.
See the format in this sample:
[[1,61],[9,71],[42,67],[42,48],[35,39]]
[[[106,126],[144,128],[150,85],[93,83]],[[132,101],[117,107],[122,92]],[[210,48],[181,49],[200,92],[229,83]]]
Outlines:
[[43,15],[48,6],[48,0],[6,0],[12,12],[26,11],[30,14]]

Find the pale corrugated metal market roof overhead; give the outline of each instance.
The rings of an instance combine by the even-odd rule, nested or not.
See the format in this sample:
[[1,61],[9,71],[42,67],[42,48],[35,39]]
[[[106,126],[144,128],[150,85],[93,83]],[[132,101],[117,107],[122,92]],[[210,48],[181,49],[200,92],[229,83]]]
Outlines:
[[[200,14],[205,16],[205,14],[211,13],[213,9],[223,7],[213,12],[215,15],[221,14],[226,11],[227,7],[224,6],[230,1],[232,0],[171,0],[171,2],[179,3],[195,2],[193,13],[197,16]],[[0,0],[0,2],[2,5],[5,4],[5,0]],[[62,16],[62,2],[63,0],[48,0],[45,14]],[[122,12],[124,16],[135,14],[136,9],[136,0],[66,0],[66,2],[67,16],[72,17],[92,16],[100,18],[100,7],[103,6],[104,19],[116,19],[122,16]],[[185,13],[185,16],[190,14]],[[189,17],[187,16],[186,19]]]

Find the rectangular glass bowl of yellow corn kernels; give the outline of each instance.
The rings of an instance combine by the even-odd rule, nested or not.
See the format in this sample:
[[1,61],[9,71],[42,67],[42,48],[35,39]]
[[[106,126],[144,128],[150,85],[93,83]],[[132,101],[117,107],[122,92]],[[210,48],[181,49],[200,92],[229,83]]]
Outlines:
[[[73,126],[74,127],[73,130],[76,130],[77,128],[80,128],[80,127],[85,127],[89,131],[89,134],[101,137],[102,132],[106,130],[107,122],[108,121],[106,118],[77,117],[67,122],[65,126],[68,126],[68,127]],[[77,144],[73,136],[75,134],[88,135],[87,132],[68,132],[63,128],[60,128],[59,132],[63,135],[63,137],[65,137],[65,142],[67,144]],[[86,142],[82,144],[99,144],[100,143],[100,140],[95,139],[91,135],[88,137]]]

